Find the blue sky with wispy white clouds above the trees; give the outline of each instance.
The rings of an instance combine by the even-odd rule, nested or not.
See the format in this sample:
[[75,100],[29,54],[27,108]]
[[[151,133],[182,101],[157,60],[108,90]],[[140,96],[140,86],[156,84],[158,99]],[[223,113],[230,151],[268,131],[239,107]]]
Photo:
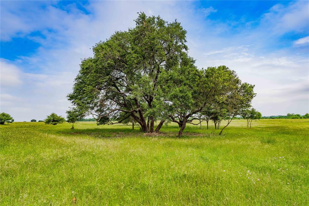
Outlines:
[[262,115],[309,112],[307,1],[1,1],[1,112],[65,116],[80,59],[139,11],[181,22],[198,67],[255,84]]

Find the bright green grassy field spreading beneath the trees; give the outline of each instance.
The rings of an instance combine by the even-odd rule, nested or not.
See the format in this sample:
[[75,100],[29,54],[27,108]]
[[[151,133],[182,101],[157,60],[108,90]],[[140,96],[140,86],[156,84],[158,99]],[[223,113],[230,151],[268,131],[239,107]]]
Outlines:
[[70,127],[1,125],[1,205],[309,205],[309,120]]

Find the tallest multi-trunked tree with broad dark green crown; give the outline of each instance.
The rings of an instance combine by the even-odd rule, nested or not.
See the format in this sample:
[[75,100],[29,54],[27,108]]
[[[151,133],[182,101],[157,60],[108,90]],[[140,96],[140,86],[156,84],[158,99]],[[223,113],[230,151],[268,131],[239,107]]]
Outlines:
[[82,61],[68,99],[100,124],[122,114],[123,119],[131,116],[142,131],[153,132],[163,109],[161,73],[191,63],[191,58],[186,31],[176,20],[168,23],[140,13],[135,22],[135,28],[115,32],[93,47],[94,56]]

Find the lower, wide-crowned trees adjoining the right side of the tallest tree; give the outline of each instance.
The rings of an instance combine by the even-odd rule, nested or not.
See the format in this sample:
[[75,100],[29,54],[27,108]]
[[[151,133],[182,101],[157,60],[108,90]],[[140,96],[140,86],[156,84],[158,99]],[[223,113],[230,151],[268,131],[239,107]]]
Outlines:
[[196,114],[212,108],[212,119],[220,124],[225,117],[233,119],[241,109],[250,107],[256,95],[254,85],[241,83],[236,72],[228,67],[198,70],[193,63],[191,61],[190,69],[180,67],[166,72],[167,80],[163,84],[171,113],[169,117],[182,127],[179,136],[186,122],[190,123],[188,119]]

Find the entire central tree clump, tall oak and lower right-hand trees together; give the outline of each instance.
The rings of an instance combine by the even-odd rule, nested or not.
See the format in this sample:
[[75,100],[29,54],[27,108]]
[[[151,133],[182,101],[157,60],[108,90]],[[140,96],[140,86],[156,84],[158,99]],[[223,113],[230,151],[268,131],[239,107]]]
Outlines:
[[[98,124],[136,122],[144,132],[158,132],[172,121],[181,136],[186,123],[208,108],[224,111],[219,119],[233,119],[251,106],[254,85],[242,83],[235,71],[195,66],[179,22],[139,13],[135,23],[97,43],[93,57],[82,60],[68,95],[81,118],[92,115]],[[161,122],[155,129],[156,120]]]

